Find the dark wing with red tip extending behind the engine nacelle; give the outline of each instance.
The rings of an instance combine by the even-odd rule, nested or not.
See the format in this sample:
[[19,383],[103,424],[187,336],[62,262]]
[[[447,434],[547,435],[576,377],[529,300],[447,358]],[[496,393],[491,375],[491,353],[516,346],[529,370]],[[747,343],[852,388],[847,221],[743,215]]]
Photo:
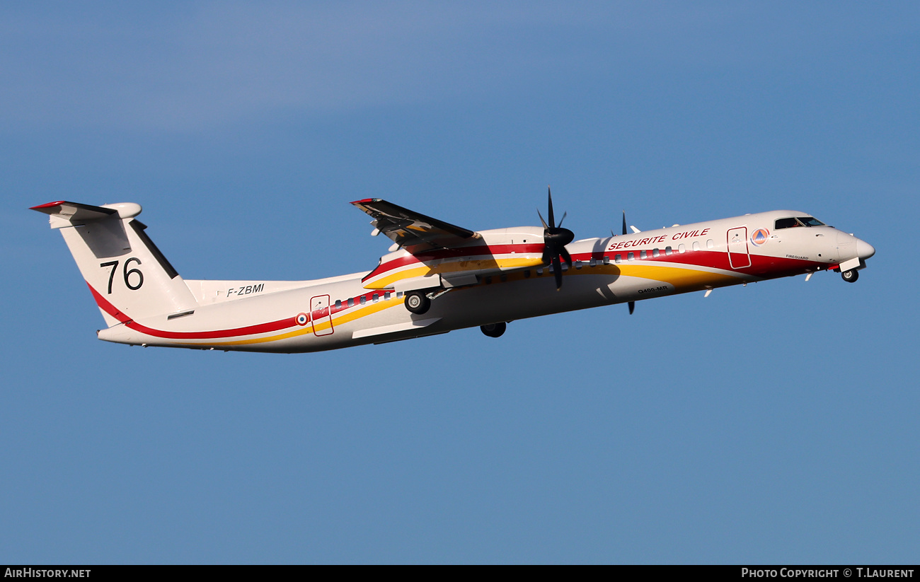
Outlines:
[[444,223],[379,198],[355,200],[351,204],[367,212],[374,218],[371,224],[377,230],[412,254],[432,248],[452,248],[479,237],[466,228]]

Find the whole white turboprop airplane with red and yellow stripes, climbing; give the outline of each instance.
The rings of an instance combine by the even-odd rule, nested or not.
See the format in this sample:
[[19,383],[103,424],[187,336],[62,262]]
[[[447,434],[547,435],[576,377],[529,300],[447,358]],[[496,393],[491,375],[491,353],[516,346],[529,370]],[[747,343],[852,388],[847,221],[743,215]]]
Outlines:
[[136,203],[32,207],[63,234],[106,328],[132,346],[312,352],[834,270],[855,282],[875,248],[799,211],[575,241],[556,223],[472,231],[380,199],[351,202],[393,241],[367,273],[320,280],[183,280]]

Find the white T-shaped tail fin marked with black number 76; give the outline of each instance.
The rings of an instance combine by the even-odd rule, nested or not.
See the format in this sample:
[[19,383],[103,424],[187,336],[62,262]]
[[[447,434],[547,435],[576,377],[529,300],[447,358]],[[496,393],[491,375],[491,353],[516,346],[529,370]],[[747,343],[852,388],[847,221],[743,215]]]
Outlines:
[[60,229],[76,266],[110,326],[193,310],[198,302],[134,217],[134,203],[89,206],[50,202],[32,207]]

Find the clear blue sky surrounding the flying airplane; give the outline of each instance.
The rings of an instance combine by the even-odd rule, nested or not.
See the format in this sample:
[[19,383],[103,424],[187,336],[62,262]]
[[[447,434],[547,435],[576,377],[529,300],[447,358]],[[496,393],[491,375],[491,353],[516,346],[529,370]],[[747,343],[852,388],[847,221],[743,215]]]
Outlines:
[[[915,563],[915,3],[0,7],[2,563]],[[370,270],[348,202],[577,237],[774,209],[877,248],[305,355],[99,342],[29,206],[187,279]],[[905,239],[904,236],[907,236]],[[900,242],[899,242],[900,241]]]

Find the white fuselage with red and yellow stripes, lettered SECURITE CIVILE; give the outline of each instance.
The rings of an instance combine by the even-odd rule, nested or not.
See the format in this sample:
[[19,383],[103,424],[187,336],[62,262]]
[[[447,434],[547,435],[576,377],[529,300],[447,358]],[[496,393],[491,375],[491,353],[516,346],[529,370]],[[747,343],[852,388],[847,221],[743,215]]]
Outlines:
[[[420,269],[427,277],[450,281],[449,276],[462,274],[461,267],[472,264],[470,257],[416,261],[406,251],[397,251],[382,260],[372,273],[379,276],[372,279],[371,274],[356,273],[312,281],[186,280],[198,303],[194,309],[143,319],[114,314],[107,309],[105,293],[93,289],[103,312],[121,322],[99,331],[98,337],[175,348],[318,351],[442,334],[464,327],[844,265],[861,268],[865,258],[871,256],[871,246],[829,226],[775,229],[777,219],[791,216],[805,214],[762,212],[575,241],[566,247],[573,264],[563,268],[565,284],[559,291],[546,266],[521,267],[528,264],[522,260],[534,261],[532,248],[526,246],[532,243],[503,240],[501,257],[490,258],[492,264],[519,262],[507,263],[510,267],[500,274],[477,276],[474,284],[469,280],[456,286],[444,282],[445,288],[432,293],[431,308],[424,314],[406,309],[400,284],[420,280]],[[482,231],[481,235],[489,245],[490,236],[507,237],[510,231],[527,233],[533,229]],[[468,255],[472,256],[475,248],[480,247],[470,245]],[[402,266],[387,270],[388,265],[397,263]],[[400,279],[399,273],[409,271],[412,272],[406,278]],[[379,283],[383,287],[369,288],[369,280],[384,281]]]

